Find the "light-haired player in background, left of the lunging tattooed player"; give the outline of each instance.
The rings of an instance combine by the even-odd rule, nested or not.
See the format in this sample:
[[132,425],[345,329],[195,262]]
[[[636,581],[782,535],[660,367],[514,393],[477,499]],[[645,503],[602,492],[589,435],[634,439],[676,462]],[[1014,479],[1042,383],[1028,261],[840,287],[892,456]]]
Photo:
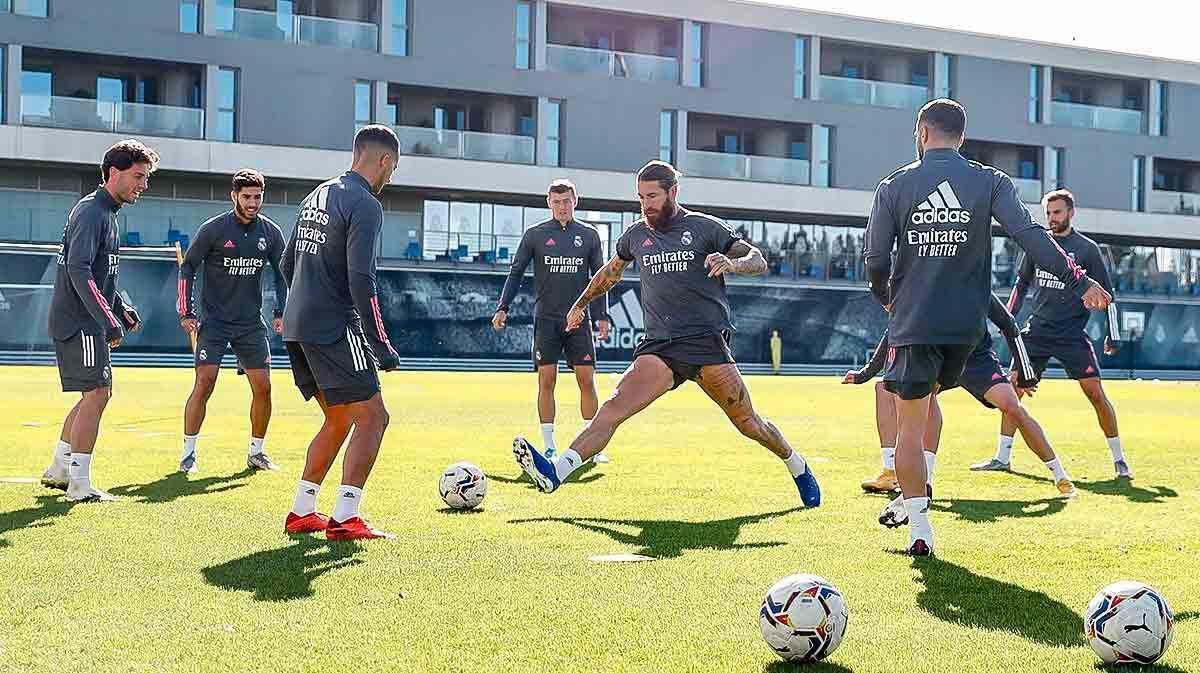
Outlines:
[[[538,369],[538,417],[541,422],[541,439],[546,456],[553,457],[558,450],[554,443],[554,383],[558,379],[558,360],[575,372],[580,386],[580,411],[584,421],[596,415],[600,405],[595,384],[595,342],[592,330],[566,330],[566,312],[583,294],[592,275],[604,266],[604,244],[595,227],[575,220],[578,197],[570,180],[554,180],[550,185],[546,203],[553,215],[521,236],[517,256],[512,259],[509,277],[500,293],[500,302],[492,317],[492,328],[503,330],[509,317],[509,305],[521,287],[524,270],[533,260],[534,326],[533,365]],[[608,338],[607,295],[600,295],[590,306],[590,316],[584,316],[588,328],[595,320],[600,338]],[[590,319],[588,319],[590,318]],[[604,453],[596,453],[593,462],[607,463]]]

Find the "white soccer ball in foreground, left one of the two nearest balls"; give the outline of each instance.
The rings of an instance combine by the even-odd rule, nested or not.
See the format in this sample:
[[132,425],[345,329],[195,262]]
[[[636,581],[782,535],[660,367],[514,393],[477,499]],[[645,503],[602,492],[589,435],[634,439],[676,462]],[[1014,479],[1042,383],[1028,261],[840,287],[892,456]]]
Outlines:
[[850,611],[836,587],[816,575],[791,575],[762,600],[762,637],[785,661],[829,656],[846,636]]

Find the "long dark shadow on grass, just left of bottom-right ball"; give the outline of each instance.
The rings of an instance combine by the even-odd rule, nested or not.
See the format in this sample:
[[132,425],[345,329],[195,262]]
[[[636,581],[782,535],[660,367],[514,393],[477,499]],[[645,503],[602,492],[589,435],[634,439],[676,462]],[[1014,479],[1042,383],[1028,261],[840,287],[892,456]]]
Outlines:
[[913,559],[922,584],[917,606],[953,624],[1007,631],[1051,647],[1086,645],[1084,619],[1042,591],[1001,582],[942,560]]

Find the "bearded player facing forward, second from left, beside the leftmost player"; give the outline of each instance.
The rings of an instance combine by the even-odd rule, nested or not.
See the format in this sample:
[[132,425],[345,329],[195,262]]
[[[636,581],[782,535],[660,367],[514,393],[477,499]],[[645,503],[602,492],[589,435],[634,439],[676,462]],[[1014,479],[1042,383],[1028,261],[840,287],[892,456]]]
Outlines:
[[[283,232],[262,215],[266,179],[246,168],[233,176],[229,198],[233,210],[209,220],[196,232],[179,268],[179,311],[184,331],[199,332],[196,342],[196,384],[184,408],[184,451],[179,471],[197,471],[196,441],[204,423],[209,397],[217,384],[221,359],[233,347],[238,363],[250,383],[250,450],[246,467],[274,470],[275,463],[263,450],[266,426],[271,422],[271,343],[263,323],[263,270],[275,275],[275,318],[271,329],[283,334],[283,305],[287,284],[280,272]],[[196,319],[192,288],[196,272],[204,266],[204,322]]]

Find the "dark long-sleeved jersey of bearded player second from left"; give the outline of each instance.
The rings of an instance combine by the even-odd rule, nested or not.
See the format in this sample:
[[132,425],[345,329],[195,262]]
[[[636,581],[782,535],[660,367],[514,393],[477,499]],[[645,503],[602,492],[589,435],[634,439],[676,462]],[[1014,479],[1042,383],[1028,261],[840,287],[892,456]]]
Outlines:
[[192,290],[203,264],[200,304],[205,330],[233,337],[263,326],[263,271],[270,266],[275,275],[275,317],[281,318],[287,301],[287,283],[280,271],[282,256],[283,232],[262,215],[250,224],[239,222],[232,210],[209,220],[196,232],[179,268],[175,310],[181,318],[196,318]]

